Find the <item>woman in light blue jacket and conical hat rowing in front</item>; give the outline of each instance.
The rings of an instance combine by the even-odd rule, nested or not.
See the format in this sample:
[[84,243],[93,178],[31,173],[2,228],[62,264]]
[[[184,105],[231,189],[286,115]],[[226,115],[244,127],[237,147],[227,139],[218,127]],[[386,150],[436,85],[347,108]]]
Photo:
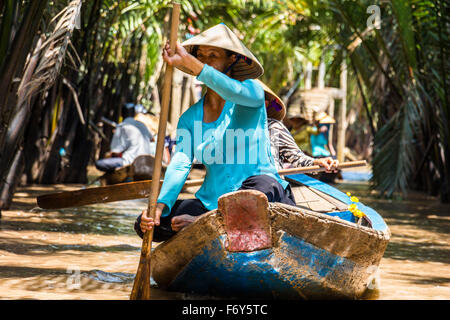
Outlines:
[[[155,241],[164,241],[216,209],[220,196],[236,190],[259,190],[269,202],[295,205],[271,155],[264,90],[253,80],[264,69],[250,50],[219,24],[177,43],[175,52],[166,44],[163,59],[194,75],[207,90],[178,121],[176,150],[164,176],[155,220],[144,210],[135,223],[138,235],[155,226]],[[177,200],[194,158],[206,167],[204,182],[195,199]]]

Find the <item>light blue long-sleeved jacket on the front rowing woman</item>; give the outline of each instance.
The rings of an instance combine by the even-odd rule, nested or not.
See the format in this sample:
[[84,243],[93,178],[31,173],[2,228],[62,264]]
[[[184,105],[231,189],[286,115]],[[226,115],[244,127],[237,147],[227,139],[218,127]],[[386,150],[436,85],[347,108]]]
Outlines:
[[284,188],[270,151],[264,90],[254,80],[234,80],[205,64],[197,79],[217,92],[225,105],[219,118],[203,122],[204,98],[186,110],[178,121],[177,145],[164,175],[158,197],[167,216],[186,181],[194,157],[206,167],[195,194],[208,210],[219,197],[236,191],[248,177],[265,174]]

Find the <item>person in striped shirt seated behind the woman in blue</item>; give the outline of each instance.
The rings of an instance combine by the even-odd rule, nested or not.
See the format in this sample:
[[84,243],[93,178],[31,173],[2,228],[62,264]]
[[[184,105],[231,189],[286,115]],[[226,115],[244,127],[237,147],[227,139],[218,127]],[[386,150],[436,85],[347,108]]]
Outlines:
[[268,129],[270,134],[270,144],[272,156],[278,170],[283,168],[299,168],[312,165],[319,165],[328,170],[334,171],[339,162],[332,158],[312,158],[307,156],[296,144],[289,130],[283,124],[286,116],[286,106],[265,83],[257,80],[264,89]]

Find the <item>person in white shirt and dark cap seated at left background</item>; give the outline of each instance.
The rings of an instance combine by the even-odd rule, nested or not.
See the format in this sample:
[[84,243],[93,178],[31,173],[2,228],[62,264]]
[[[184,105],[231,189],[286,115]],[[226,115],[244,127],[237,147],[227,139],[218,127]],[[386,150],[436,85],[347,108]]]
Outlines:
[[105,158],[95,162],[95,167],[100,171],[112,172],[116,168],[132,164],[136,157],[151,152],[152,134],[145,124],[134,119],[135,105],[126,103],[121,113],[123,121],[115,128],[110,152]]

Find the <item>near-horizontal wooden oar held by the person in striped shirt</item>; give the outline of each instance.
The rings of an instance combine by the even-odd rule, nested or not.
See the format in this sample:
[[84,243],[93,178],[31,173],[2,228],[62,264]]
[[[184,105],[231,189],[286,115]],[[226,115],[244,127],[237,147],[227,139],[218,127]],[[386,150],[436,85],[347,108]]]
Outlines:
[[[365,160],[349,161],[339,164],[339,169],[355,168],[366,166]],[[325,168],[310,166],[303,168],[290,168],[278,171],[280,176],[296,173],[322,172]],[[111,186],[80,189],[74,191],[64,191],[58,193],[45,194],[37,197],[38,206],[42,209],[61,209],[69,207],[79,207],[88,204],[106,203],[113,201],[123,201],[132,199],[143,199],[150,195],[152,180],[120,183]],[[160,180],[160,184],[162,180]],[[200,186],[203,179],[187,180],[185,187]]]

